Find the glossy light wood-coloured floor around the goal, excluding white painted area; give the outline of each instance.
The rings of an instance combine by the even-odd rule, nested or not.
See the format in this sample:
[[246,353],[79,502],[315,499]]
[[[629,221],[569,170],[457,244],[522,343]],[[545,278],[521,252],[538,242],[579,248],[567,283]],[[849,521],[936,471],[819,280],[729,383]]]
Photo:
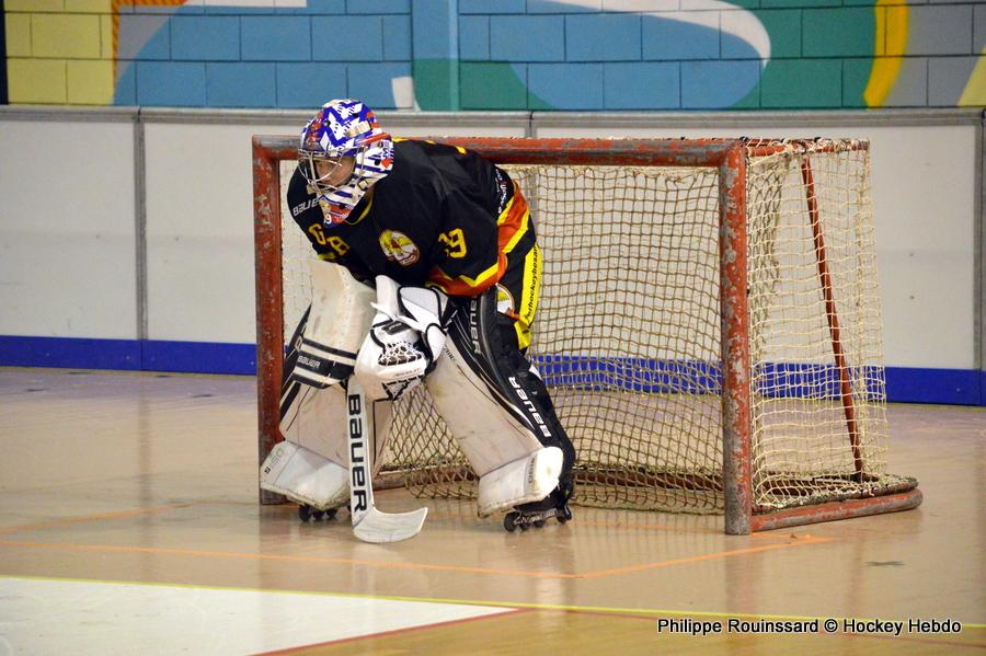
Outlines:
[[[564,527],[508,534],[470,504],[385,491],[381,509],[425,503],[431,514],[420,536],[383,546],[356,541],[345,517],[302,525],[294,506],[257,505],[255,393],[245,377],[0,369],[0,597],[4,580],[41,578],[508,609],[298,653],[986,651],[983,408],[891,406],[890,470],[920,481],[916,510],[729,537],[718,516],[576,507]],[[905,629],[726,632],[730,618],[765,617]],[[724,629],[691,636],[658,631],[658,618]],[[910,618],[963,628],[916,633]],[[4,628],[0,654],[20,653]],[[172,653],[167,642],[159,653]]]

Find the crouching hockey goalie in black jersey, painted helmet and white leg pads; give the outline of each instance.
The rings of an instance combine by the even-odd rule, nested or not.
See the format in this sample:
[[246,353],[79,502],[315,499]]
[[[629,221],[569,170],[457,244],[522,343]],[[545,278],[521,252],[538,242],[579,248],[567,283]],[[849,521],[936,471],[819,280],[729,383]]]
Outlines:
[[481,517],[571,518],[575,449],[526,356],[541,277],[527,203],[477,153],[391,138],[355,100],[301,131],[287,191],[311,241],[312,302],[285,357],[261,486],[302,518],[349,499],[346,390],[367,398],[372,462],[391,404],[425,384],[479,476]]

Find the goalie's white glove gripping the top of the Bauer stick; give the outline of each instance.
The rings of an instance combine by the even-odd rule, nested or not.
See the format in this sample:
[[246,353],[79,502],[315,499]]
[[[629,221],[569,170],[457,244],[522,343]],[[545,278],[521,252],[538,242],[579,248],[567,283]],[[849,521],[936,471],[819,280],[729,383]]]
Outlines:
[[434,368],[445,345],[448,297],[377,276],[377,310],[356,356],[356,377],[376,401],[399,399]]

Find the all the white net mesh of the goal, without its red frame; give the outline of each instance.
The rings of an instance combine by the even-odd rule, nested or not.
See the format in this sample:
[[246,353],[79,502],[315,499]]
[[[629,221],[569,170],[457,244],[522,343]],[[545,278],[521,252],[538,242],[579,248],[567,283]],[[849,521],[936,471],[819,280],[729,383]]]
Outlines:
[[[867,496],[904,481],[885,472],[869,154],[826,143],[810,153],[788,147],[748,164],[759,509]],[[805,158],[821,217],[814,230]],[[718,170],[505,168],[528,199],[543,251],[530,354],[578,452],[576,503],[721,511]],[[293,169],[282,162],[282,189]],[[310,248],[287,214],[283,243],[287,337],[310,295]],[[819,261],[830,278],[828,299]],[[423,387],[395,404],[383,468],[416,494],[474,496],[474,476]]]

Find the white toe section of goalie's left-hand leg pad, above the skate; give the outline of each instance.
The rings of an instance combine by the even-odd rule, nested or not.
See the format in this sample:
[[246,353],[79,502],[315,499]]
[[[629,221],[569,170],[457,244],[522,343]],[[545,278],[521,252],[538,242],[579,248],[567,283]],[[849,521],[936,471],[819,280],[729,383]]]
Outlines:
[[305,447],[282,441],[261,465],[260,485],[317,510],[328,510],[346,503],[349,470]]

